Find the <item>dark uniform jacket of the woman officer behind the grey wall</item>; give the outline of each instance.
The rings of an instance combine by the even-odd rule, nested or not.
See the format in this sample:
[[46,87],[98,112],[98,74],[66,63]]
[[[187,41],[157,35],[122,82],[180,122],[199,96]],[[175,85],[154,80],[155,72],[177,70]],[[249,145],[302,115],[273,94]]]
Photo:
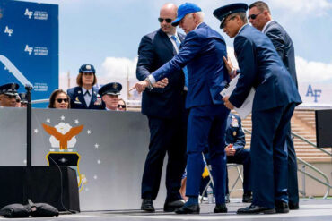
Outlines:
[[83,91],[81,87],[74,87],[67,89],[67,94],[70,97],[70,108],[72,109],[103,109],[104,106],[101,102],[101,98],[98,95],[97,87],[92,87],[92,99],[90,106],[86,106]]

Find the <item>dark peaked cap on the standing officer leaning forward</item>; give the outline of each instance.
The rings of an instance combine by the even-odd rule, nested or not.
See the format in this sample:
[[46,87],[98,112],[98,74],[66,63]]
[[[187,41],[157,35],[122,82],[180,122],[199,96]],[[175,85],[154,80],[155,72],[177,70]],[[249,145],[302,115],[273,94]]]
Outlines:
[[232,13],[246,13],[247,9],[248,9],[248,4],[244,3],[227,4],[224,5],[223,7],[215,9],[214,16],[221,22],[220,28],[223,29],[223,22],[225,21],[228,15]]

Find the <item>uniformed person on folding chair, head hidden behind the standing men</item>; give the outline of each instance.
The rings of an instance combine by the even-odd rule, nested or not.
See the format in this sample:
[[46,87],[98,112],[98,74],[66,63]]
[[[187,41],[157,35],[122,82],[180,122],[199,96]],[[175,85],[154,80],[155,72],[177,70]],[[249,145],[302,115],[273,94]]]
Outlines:
[[[241,120],[238,115],[230,113],[227,119],[225,132],[225,152],[227,163],[243,165],[243,197],[242,202],[252,201],[252,192],[250,185],[250,149],[244,149],[246,140],[242,130]],[[226,185],[226,200],[229,200],[228,175]]]

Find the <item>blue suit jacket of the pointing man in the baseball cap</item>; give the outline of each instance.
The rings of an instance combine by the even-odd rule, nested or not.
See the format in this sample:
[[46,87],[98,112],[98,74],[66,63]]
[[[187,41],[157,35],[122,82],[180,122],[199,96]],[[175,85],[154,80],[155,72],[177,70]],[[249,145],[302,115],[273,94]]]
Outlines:
[[226,56],[223,37],[205,23],[186,36],[178,55],[153,72],[159,81],[187,65],[188,94],[186,107],[223,104],[219,94],[230,81],[223,64]]

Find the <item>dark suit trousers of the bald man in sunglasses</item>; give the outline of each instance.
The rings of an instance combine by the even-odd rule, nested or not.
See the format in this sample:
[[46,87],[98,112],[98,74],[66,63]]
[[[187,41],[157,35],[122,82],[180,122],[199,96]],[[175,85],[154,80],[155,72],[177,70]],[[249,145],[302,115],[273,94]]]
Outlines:
[[155,200],[162,177],[162,166],[166,153],[167,201],[179,200],[181,177],[186,167],[186,128],[182,117],[162,119],[148,116],[150,128],[150,144],[142,178],[142,199]]

